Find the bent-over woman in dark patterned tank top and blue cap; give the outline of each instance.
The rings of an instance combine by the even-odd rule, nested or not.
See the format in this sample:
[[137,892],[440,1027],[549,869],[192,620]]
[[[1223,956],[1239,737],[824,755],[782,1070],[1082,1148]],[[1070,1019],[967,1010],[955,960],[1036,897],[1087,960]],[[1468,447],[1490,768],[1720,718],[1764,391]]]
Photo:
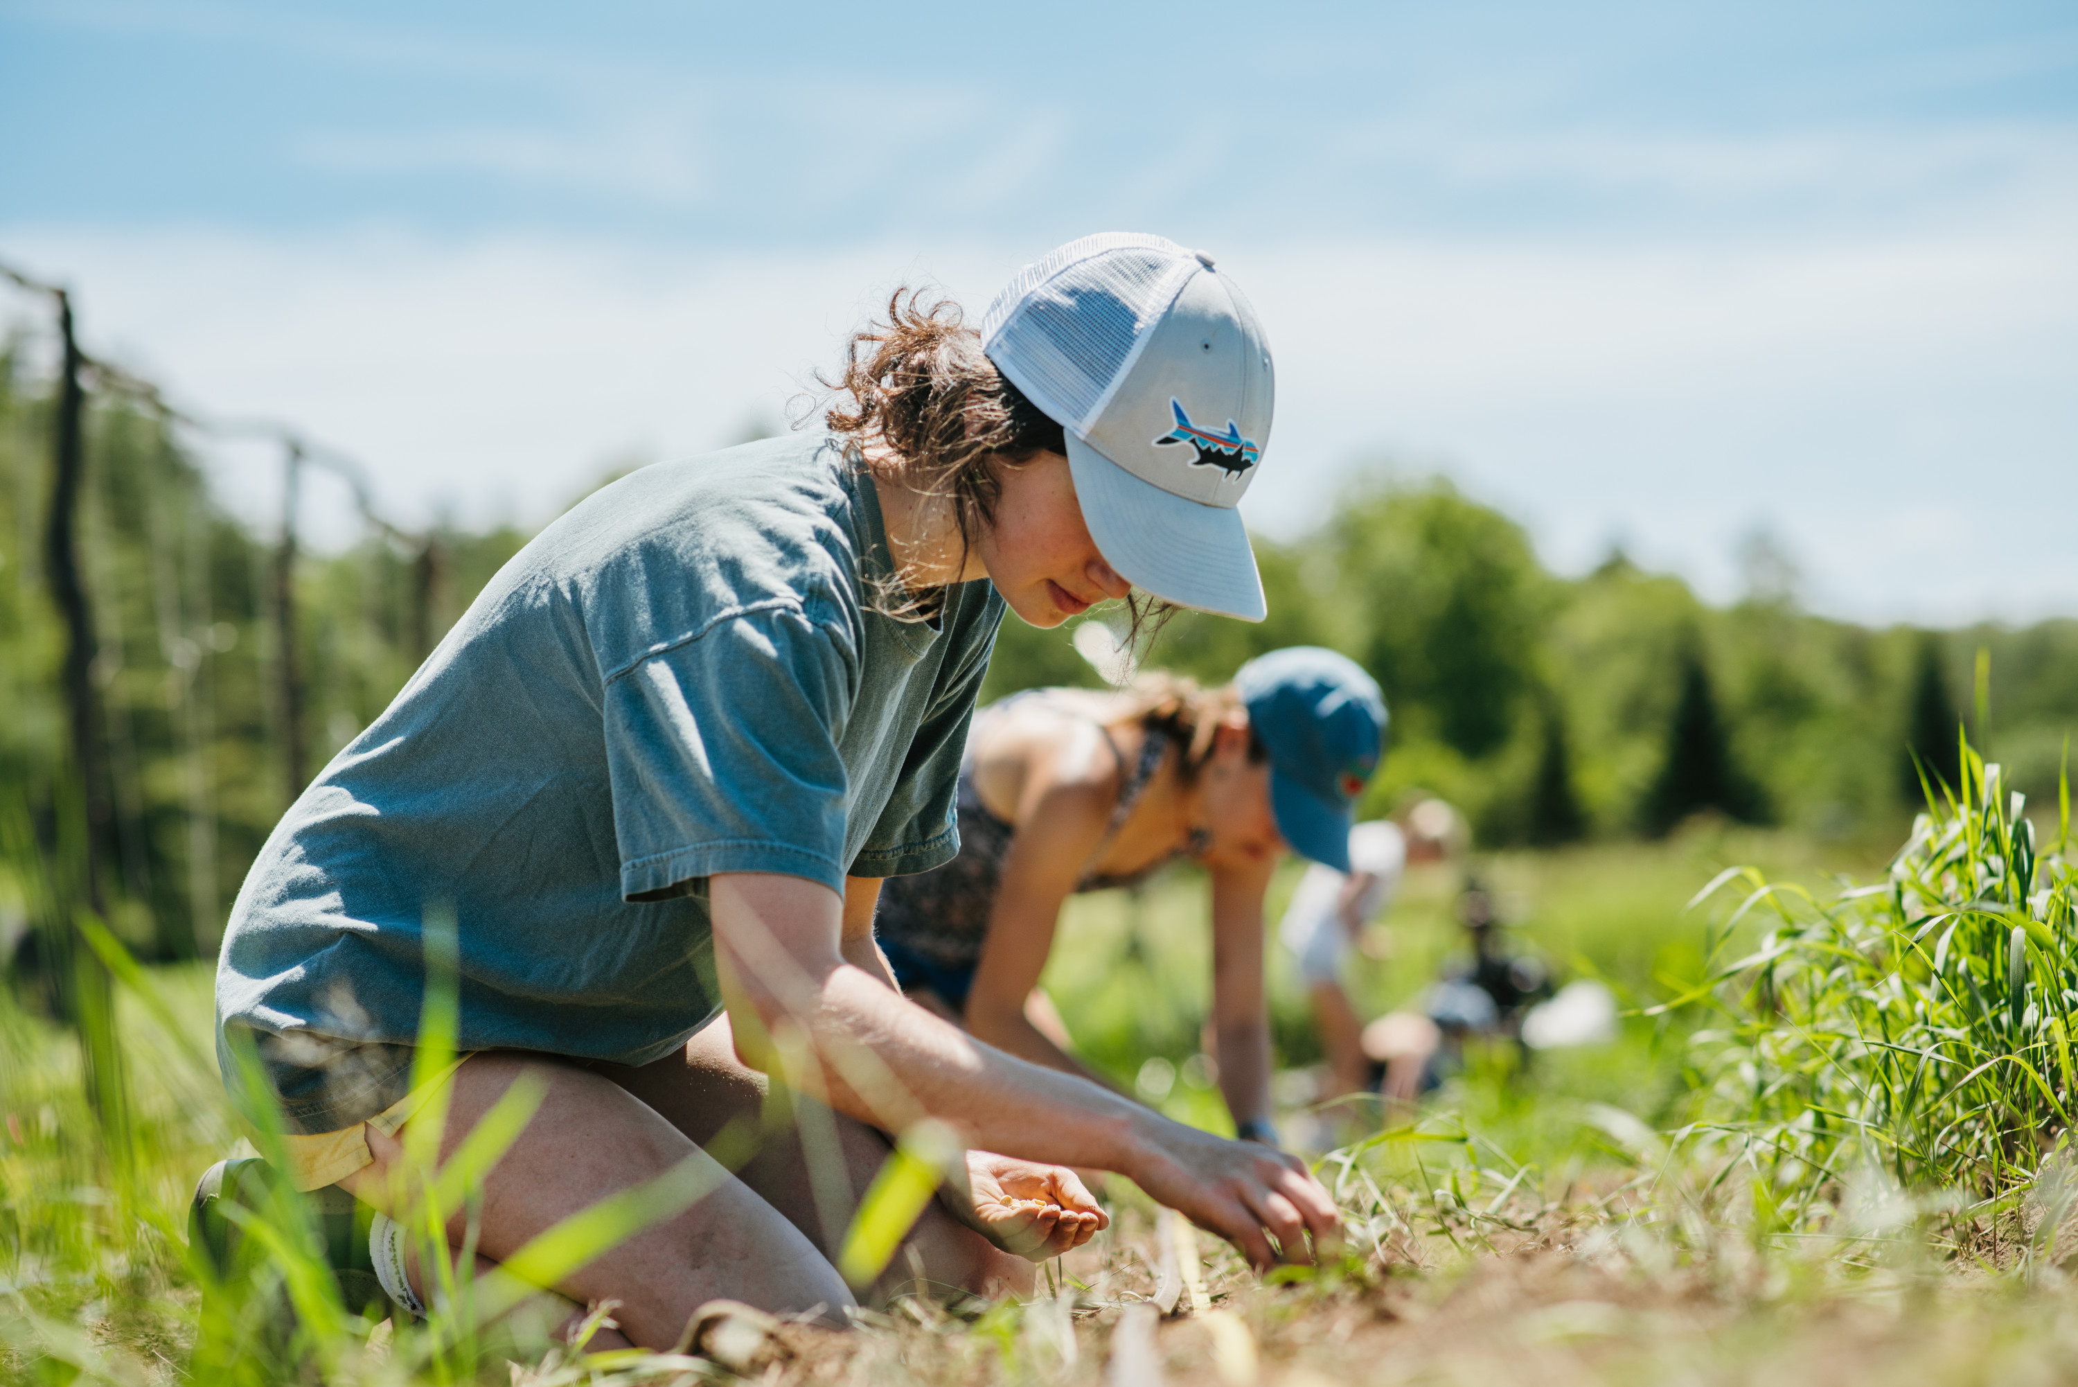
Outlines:
[[1384,728],[1371,676],[1315,647],[1251,659],[1224,688],[1147,674],[1004,699],[960,765],[960,855],[887,882],[881,950],[908,996],[981,1040],[1099,1079],[1039,990],[1062,905],[1189,857],[1211,878],[1220,1092],[1238,1135],[1276,1144],[1263,892],[1286,846],[1349,869]]

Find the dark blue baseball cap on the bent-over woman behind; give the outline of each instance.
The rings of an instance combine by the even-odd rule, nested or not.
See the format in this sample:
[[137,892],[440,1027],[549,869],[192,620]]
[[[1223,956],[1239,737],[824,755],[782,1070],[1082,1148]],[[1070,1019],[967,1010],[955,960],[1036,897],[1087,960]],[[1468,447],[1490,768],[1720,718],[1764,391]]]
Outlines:
[[1270,753],[1270,809],[1301,857],[1349,871],[1357,796],[1386,749],[1386,701],[1347,655],[1270,651],[1234,674],[1249,728]]

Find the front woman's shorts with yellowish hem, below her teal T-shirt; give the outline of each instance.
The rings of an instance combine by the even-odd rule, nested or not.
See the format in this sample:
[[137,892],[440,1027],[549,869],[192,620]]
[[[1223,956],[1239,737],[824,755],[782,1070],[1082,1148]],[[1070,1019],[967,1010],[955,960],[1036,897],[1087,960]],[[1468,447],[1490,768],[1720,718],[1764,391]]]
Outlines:
[[387,1137],[432,1102],[468,1054],[411,1088],[416,1050],[314,1031],[254,1031],[260,1067],[278,1100],[289,1181],[297,1189],[337,1185],[374,1162],[368,1127]]

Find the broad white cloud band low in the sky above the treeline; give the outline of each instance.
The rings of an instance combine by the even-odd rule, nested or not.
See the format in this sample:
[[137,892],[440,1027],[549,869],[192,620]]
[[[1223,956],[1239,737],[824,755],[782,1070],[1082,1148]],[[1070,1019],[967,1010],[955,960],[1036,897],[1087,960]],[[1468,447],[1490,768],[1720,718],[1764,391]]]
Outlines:
[[[1623,534],[1725,595],[1764,520],[1827,609],[2074,611],[2074,231],[1220,245],[1278,349],[1247,509],[1295,532],[1386,445],[1457,460],[1569,568]],[[89,343],[183,401],[295,420],[364,457],[389,509],[472,522],[538,522],[617,455],[777,418],[898,281],[979,308],[1039,250],[54,229],[0,245],[69,277]],[[218,466],[235,503],[272,512],[249,449]]]

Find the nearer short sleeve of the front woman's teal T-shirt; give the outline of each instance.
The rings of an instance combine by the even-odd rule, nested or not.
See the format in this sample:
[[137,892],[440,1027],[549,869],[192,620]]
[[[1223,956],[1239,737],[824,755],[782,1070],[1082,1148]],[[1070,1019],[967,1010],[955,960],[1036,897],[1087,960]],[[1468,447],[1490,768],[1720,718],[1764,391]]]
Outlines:
[[773,605],[617,672],[605,688],[613,834],[628,900],[686,894],[719,871],[844,890],[846,769],[856,688],[842,628]]

